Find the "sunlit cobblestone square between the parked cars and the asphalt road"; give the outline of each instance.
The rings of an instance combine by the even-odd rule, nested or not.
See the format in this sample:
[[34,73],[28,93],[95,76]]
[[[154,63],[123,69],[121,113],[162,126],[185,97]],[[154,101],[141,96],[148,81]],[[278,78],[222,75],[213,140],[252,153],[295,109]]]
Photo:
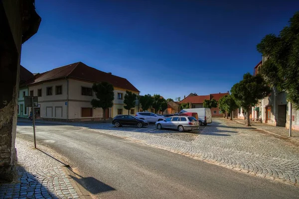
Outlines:
[[90,130],[138,141],[251,175],[299,184],[297,141],[257,132],[236,122],[215,119],[192,139],[176,139],[170,133],[169,136],[157,136],[163,130],[141,133],[96,129],[94,125],[92,128]]

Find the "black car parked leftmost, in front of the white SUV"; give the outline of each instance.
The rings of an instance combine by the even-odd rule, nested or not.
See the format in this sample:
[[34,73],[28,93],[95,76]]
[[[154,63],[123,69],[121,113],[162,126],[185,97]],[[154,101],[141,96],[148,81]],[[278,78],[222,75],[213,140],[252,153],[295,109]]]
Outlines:
[[138,126],[139,128],[141,128],[143,126],[148,126],[149,122],[143,119],[138,119],[137,117],[132,115],[117,115],[113,118],[112,124],[114,124],[115,127],[120,127],[124,125]]

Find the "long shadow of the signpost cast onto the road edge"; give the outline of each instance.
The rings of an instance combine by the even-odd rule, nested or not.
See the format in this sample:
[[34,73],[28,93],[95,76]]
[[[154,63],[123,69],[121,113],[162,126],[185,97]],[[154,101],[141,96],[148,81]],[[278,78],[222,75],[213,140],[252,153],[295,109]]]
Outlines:
[[76,181],[77,184],[79,184],[78,187],[82,186],[85,190],[87,190],[91,194],[99,194],[102,192],[109,192],[109,191],[115,191],[113,187],[95,179],[94,177],[82,177],[78,173],[74,172],[72,168],[65,164],[64,162],[61,162],[60,160],[54,158],[53,156],[49,155],[48,153],[45,153],[44,151],[37,149],[40,152],[44,153],[45,155],[51,157],[52,159],[56,160],[57,162],[61,163],[70,173],[71,178]]

